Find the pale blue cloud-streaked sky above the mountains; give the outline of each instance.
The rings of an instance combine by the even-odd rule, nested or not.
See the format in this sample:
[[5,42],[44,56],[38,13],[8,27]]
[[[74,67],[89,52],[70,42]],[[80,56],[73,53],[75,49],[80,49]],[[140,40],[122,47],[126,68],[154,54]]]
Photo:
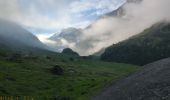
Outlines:
[[34,34],[50,36],[68,27],[85,28],[125,0],[0,0],[0,17]]

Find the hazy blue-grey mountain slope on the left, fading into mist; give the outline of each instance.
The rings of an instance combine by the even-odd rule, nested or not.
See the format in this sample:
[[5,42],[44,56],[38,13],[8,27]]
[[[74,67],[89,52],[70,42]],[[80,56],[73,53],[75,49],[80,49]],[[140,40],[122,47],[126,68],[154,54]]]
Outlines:
[[18,24],[0,20],[0,45],[12,50],[25,51],[28,48],[47,49],[36,36]]

